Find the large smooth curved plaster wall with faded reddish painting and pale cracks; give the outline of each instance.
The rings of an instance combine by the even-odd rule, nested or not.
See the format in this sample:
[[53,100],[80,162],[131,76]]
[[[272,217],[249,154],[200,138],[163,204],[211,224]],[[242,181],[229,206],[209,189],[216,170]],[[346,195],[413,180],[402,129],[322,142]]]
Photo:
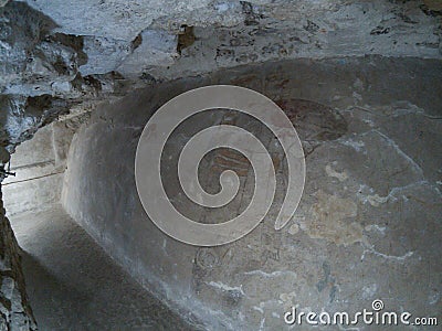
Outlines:
[[[64,206],[140,284],[172,308],[192,311],[209,329],[280,330],[292,306],[355,312],[378,298],[391,310],[438,316],[441,74],[433,60],[298,60],[137,90],[97,109],[74,137]],[[263,92],[298,129],[306,186],[282,231],[273,227],[284,193],[281,151],[253,120],[222,111],[190,120],[171,136],[161,169],[165,186],[193,220],[222,222],[240,213],[253,192],[244,160],[227,151],[204,160],[200,178],[210,192],[217,192],[223,169],[234,166],[241,178],[242,196],[213,212],[180,194],[169,157],[204,125],[243,126],[264,140],[278,169],[275,205],[264,222],[241,241],[198,248],[169,238],[143,211],[134,159],[144,125],[172,96],[207,84]]]

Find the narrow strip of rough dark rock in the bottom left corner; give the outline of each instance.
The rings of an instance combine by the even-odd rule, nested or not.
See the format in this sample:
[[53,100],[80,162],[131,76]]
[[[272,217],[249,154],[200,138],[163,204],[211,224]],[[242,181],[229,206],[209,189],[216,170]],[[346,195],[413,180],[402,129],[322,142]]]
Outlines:
[[36,330],[25,295],[19,245],[4,216],[0,191],[0,330]]

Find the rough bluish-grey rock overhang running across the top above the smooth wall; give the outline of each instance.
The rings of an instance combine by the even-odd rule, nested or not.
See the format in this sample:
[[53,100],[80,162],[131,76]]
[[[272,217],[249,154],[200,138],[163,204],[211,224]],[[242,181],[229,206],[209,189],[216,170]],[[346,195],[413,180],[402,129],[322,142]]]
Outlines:
[[[99,75],[112,72],[143,85],[148,74],[179,77],[272,58],[441,57],[440,19],[420,1],[39,0],[1,11],[0,90],[13,99],[85,102],[85,77],[105,82]],[[186,29],[194,38],[180,45]]]

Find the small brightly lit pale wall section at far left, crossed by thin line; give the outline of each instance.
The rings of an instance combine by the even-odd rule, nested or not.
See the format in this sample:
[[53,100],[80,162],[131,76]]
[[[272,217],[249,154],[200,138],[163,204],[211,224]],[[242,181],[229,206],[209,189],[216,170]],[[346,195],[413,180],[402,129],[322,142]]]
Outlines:
[[8,164],[15,175],[8,177],[2,183],[8,217],[60,203],[71,140],[87,118],[86,113],[54,121],[15,148]]

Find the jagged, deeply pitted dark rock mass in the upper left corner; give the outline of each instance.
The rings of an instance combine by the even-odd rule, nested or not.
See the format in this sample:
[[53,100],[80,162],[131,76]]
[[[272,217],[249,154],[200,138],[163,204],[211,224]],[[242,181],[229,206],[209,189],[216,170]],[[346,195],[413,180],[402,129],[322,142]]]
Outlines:
[[55,32],[50,18],[24,2],[8,3],[0,18],[0,145],[13,152],[40,127],[117,84],[106,86],[113,74],[103,83],[82,77],[78,66],[87,61],[83,36]]

